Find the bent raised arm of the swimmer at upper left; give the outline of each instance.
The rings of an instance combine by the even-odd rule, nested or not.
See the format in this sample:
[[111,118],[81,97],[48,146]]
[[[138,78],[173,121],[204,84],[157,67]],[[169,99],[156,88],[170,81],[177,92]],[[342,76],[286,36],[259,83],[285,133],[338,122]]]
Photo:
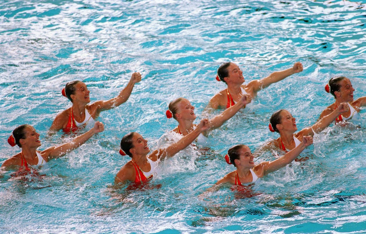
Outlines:
[[127,99],[130,97],[132,89],[136,83],[141,81],[141,74],[139,72],[132,73],[131,79],[128,82],[127,86],[119,93],[118,96],[112,98],[108,101],[97,101],[93,103],[93,105],[97,106],[97,113],[100,113],[104,110],[109,110],[115,108],[122,103],[126,102]]

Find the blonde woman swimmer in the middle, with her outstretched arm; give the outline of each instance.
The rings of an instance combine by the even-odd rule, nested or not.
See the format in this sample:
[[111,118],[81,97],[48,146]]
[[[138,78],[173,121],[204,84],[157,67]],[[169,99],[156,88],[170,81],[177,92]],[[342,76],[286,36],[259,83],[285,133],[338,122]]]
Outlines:
[[[251,102],[250,95],[243,95],[240,97],[239,101],[233,106],[229,107],[221,114],[211,118],[209,120],[209,129],[212,130],[215,128],[219,128],[223,125],[229,118],[233,117],[243,106]],[[167,110],[167,117],[173,117],[176,121],[178,121],[178,127],[173,129],[174,132],[178,134],[182,134],[183,136],[187,135],[195,128],[195,124],[193,121],[196,119],[196,115],[194,113],[194,106],[191,105],[190,101],[185,98],[177,98],[169,103],[169,110]],[[207,131],[202,133],[204,136],[207,136]]]

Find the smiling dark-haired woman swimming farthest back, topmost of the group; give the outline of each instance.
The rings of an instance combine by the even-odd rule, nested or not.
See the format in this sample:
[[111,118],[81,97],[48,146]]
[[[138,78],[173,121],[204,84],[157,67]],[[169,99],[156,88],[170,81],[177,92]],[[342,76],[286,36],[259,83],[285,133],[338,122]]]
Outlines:
[[239,66],[232,62],[224,63],[217,70],[216,80],[223,81],[227,84],[227,88],[213,96],[208,106],[213,109],[227,109],[238,102],[243,94],[249,94],[253,99],[259,90],[283,80],[292,74],[302,72],[302,70],[302,64],[296,62],[294,66],[289,69],[273,72],[266,78],[252,80],[245,85],[243,84],[245,81],[243,72],[240,70]]

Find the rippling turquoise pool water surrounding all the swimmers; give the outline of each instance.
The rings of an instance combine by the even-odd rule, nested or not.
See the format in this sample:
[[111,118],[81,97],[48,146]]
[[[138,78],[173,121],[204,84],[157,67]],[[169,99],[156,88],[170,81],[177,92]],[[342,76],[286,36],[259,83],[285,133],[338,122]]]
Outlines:
[[[0,162],[19,152],[6,139],[20,124],[47,137],[67,81],[83,80],[92,101],[117,95],[142,73],[130,99],[103,112],[105,131],[23,182],[2,172],[1,233],[365,233],[365,109],[358,129],[329,127],[314,138],[306,162],[294,162],[240,198],[229,186],[202,194],[234,170],[223,156],[237,143],[252,151],[277,137],[270,115],[288,109],[299,129],[333,102],[324,85],[350,77],[366,96],[365,1],[1,1]],[[304,71],[259,92],[250,108],[212,132],[210,150],[188,148],[161,164],[160,189],[113,189],[129,159],[118,153],[137,131],[156,148],[176,126],[168,103],[183,96],[198,119],[225,88],[217,67],[234,61],[247,81],[288,68]],[[198,122],[198,121],[197,121]],[[200,146],[198,146],[200,147]],[[268,152],[256,161],[273,160]]]

